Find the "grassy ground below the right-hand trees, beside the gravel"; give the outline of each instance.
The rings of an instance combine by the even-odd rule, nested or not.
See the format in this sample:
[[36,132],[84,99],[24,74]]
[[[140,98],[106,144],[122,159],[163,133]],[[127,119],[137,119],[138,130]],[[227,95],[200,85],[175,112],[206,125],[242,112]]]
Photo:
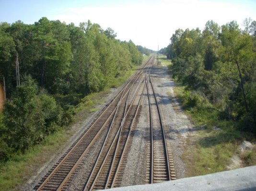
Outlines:
[[[175,79],[174,79],[175,80]],[[256,146],[245,153],[239,152],[244,140],[255,143],[253,134],[236,128],[236,122],[219,118],[219,111],[209,104],[191,106],[186,86],[175,80],[175,96],[186,115],[194,124],[187,138],[182,159],[186,164],[186,176],[199,176],[228,169],[234,155],[240,157],[238,167],[256,165]]]

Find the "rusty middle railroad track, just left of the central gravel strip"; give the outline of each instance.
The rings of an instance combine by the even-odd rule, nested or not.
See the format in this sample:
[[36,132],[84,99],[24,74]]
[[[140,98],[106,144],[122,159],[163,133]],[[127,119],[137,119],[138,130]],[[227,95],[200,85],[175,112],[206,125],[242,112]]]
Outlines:
[[[150,64],[152,64],[153,60],[154,57],[151,58]],[[116,180],[116,171],[118,171],[120,167],[120,160],[122,159],[123,151],[130,134],[130,128],[133,126],[134,119],[139,113],[140,101],[146,85],[144,82],[145,85],[143,87],[143,82],[144,77],[140,80],[140,85],[121,122],[115,139],[113,141],[111,140],[112,142],[109,144],[106,144],[111,146],[109,148],[103,146],[97,161],[95,162],[94,168],[90,173],[90,177],[84,186],[84,191],[111,188],[113,181]],[[102,153],[106,154],[103,155]]]

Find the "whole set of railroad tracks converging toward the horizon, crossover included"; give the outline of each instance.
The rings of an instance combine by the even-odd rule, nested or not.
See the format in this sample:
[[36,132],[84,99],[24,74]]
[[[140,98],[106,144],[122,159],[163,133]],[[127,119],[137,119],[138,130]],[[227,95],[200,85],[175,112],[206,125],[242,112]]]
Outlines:
[[[120,185],[129,153],[132,131],[140,117],[141,100],[147,96],[150,113],[148,138],[148,183],[175,179],[170,145],[165,140],[157,97],[151,83],[155,56],[135,74],[101,115],[58,160],[34,189],[69,190],[69,184],[82,167],[81,161],[97,152],[95,162],[84,175],[79,190],[99,190]],[[97,149],[97,146],[99,149]]]

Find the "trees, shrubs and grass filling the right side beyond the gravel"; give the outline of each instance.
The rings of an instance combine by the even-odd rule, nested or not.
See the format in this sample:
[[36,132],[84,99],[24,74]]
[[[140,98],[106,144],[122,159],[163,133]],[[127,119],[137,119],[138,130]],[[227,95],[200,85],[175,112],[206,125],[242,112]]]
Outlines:
[[195,125],[183,159],[187,176],[227,169],[233,155],[242,166],[256,164],[256,21],[241,30],[236,21],[208,21],[201,32],[178,29],[162,52],[176,81],[176,96]]

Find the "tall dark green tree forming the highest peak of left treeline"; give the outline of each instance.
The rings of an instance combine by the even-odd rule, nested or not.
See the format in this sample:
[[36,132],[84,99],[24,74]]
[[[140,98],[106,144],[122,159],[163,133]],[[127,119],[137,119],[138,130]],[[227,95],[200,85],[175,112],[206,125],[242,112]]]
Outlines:
[[70,71],[71,46],[68,35],[68,28],[59,21],[52,22],[43,17],[35,23],[31,44],[35,50],[33,52],[38,55],[35,71],[39,69],[40,85],[52,93],[56,93],[58,82],[65,79]]

